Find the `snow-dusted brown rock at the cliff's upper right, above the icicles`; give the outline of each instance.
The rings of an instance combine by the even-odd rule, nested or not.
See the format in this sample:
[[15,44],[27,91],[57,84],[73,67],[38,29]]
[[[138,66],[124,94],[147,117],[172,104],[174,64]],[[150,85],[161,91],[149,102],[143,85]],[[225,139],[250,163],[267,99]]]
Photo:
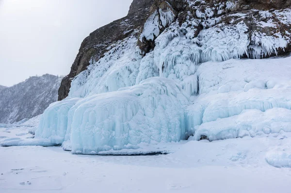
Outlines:
[[[291,0],[156,0],[138,42],[144,53],[155,47],[154,40],[168,27],[162,24],[162,13],[168,12],[165,5],[175,17],[170,24],[179,24],[176,30],[186,34],[189,32],[182,32],[185,27],[194,28],[190,39],[196,38],[198,47],[204,47],[207,38],[211,38],[205,37],[207,29],[214,31],[208,30],[209,36],[217,37],[218,33],[226,35],[231,29],[232,34],[239,34],[240,30],[241,34],[247,34],[246,50],[233,58],[266,58],[291,51]],[[155,18],[158,19],[155,21]],[[159,30],[153,37],[146,36],[148,29],[145,28],[152,29],[152,23]]]

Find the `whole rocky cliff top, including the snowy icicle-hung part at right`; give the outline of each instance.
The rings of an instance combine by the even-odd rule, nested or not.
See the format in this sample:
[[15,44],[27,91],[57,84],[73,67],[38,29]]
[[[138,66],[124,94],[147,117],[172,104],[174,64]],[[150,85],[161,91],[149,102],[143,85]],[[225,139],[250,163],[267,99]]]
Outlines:
[[184,38],[194,64],[283,55],[291,51],[291,0],[133,0],[128,16],[85,38],[58,99],[68,96],[72,79],[110,45],[130,36],[138,37],[142,56],[154,50],[159,36],[168,42]]

